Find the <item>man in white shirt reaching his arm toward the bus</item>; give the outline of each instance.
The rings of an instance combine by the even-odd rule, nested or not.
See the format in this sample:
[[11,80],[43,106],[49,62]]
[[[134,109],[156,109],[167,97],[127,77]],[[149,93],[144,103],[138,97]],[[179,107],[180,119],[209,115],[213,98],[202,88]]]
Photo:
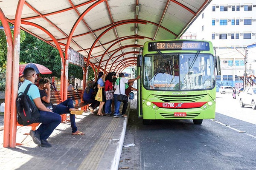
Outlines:
[[[119,112],[121,102],[117,100],[117,96],[119,94],[125,95],[125,83],[134,82],[135,80],[140,79],[140,76],[138,76],[135,79],[125,79],[125,75],[123,73],[119,73],[118,77],[119,78],[116,80],[116,84],[114,86],[114,88],[116,89],[114,92],[114,99],[115,99],[114,117],[122,117],[122,115]],[[119,83],[120,83],[120,88],[119,88]]]

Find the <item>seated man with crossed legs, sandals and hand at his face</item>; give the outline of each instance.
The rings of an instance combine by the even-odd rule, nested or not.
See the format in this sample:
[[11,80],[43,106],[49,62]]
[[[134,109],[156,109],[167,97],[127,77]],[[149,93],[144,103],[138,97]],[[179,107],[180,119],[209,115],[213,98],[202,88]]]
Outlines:
[[51,85],[49,84],[49,79],[41,78],[39,80],[39,92],[41,96],[41,101],[44,105],[50,105],[52,107],[52,111],[59,115],[71,113],[70,114],[70,123],[72,128],[72,135],[84,135],[83,132],[77,130],[75,115],[74,114],[81,114],[83,111],[79,111],[79,109],[75,109],[73,105],[73,101],[71,99],[67,99],[64,102],[61,102],[58,105],[52,105],[50,103],[51,99]]

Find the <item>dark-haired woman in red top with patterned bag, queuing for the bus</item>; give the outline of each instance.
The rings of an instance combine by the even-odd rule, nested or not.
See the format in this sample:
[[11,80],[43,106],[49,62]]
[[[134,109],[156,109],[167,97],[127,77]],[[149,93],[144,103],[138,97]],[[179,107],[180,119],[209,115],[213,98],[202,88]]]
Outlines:
[[106,103],[105,103],[105,116],[111,116],[111,104],[113,100],[113,73],[109,73],[106,77],[105,81],[105,96],[106,96]]

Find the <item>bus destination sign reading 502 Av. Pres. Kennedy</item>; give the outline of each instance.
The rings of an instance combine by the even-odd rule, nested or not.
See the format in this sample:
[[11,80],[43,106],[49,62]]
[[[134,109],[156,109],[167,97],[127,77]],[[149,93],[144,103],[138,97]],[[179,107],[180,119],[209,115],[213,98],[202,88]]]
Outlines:
[[170,41],[170,42],[149,42],[148,43],[148,51],[162,51],[162,50],[209,51],[209,42]]

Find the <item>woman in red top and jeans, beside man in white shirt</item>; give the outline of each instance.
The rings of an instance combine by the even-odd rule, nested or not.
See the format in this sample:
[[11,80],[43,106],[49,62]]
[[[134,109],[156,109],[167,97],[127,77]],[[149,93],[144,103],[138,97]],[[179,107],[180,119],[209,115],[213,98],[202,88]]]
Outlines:
[[[112,79],[113,79],[113,73],[109,73],[106,77],[106,81],[105,81],[105,93],[106,91],[113,91],[113,83],[112,83]],[[107,97],[107,94],[106,94]],[[111,116],[111,104],[112,104],[112,100],[113,99],[106,99],[106,103],[105,103],[105,116]]]

